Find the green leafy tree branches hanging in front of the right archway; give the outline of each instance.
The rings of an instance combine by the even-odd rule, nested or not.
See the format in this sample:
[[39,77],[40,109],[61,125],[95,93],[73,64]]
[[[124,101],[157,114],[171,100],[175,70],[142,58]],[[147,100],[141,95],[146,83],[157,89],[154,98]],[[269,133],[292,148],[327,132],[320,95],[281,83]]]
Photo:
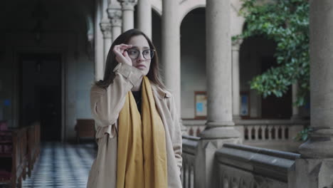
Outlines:
[[245,28],[233,40],[263,36],[277,43],[277,67],[250,81],[250,88],[264,97],[282,97],[288,86],[298,83],[297,102],[305,105],[310,90],[309,2],[308,0],[242,0],[240,14]]

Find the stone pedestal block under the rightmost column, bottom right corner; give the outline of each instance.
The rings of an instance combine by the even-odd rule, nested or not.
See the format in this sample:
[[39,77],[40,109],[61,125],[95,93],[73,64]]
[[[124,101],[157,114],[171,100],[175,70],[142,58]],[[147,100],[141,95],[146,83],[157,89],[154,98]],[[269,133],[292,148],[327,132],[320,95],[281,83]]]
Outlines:
[[333,186],[333,159],[304,159],[295,161],[288,173],[288,188],[323,188]]

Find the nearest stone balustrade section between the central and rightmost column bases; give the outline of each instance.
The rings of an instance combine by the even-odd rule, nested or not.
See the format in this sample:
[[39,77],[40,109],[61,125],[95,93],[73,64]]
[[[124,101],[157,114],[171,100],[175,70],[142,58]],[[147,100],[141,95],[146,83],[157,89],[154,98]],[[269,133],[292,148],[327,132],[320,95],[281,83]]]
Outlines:
[[224,144],[216,151],[216,187],[288,187],[295,153]]

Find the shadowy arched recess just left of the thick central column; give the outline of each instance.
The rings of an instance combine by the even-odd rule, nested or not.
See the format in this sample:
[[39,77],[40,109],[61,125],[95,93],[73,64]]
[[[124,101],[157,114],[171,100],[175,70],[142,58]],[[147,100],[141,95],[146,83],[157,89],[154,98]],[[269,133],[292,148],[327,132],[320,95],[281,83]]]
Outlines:
[[181,117],[194,119],[194,95],[206,90],[205,9],[193,9],[180,25],[181,33]]

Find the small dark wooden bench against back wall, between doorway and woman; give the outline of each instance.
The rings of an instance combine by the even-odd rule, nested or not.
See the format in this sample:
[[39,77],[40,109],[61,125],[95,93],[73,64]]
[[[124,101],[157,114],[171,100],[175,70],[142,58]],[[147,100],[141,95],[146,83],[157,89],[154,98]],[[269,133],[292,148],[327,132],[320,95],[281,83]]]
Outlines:
[[78,143],[80,143],[80,139],[83,137],[94,139],[95,120],[91,119],[76,120],[75,131],[76,131],[76,141]]

